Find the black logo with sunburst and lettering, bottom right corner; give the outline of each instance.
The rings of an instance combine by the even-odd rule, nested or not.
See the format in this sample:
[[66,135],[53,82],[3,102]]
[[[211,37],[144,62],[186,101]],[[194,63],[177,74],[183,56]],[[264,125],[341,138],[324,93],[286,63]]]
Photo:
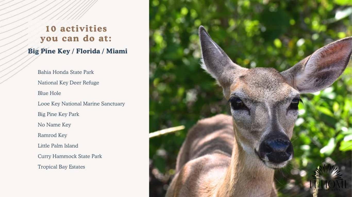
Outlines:
[[[330,164],[319,166],[314,171],[313,180],[310,180],[310,188],[318,190],[340,190],[347,189],[347,181],[341,177],[338,167]],[[317,183],[318,182],[318,183]],[[318,184],[318,186],[317,186]]]

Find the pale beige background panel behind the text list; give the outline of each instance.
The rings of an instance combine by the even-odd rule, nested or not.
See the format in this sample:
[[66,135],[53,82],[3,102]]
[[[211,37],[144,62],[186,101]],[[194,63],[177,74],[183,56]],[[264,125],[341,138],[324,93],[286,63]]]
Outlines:
[[[0,5],[6,2],[1,1]],[[0,9],[17,2],[9,2]],[[0,44],[9,43],[0,47],[0,53],[7,50],[0,54],[0,65],[3,64],[0,66],[0,196],[131,196],[131,192],[133,196],[147,196],[148,4],[138,2],[136,6],[133,1],[87,0],[84,7],[84,0],[59,2],[35,1],[0,16],[0,33],[9,30],[0,34],[0,39],[10,36]],[[3,11],[8,12],[28,3],[21,2]],[[70,17],[55,20],[61,15],[59,19],[69,13],[74,14],[76,10],[69,10],[74,5],[81,5],[76,9],[81,15],[71,18],[79,20],[67,20]],[[29,8],[32,9],[26,11]],[[21,13],[23,11],[26,12]],[[31,13],[34,14],[27,17]],[[21,24],[24,25],[17,27]],[[55,25],[56,32],[45,32],[47,25]],[[58,31],[61,26],[72,25],[107,27],[107,32]],[[20,30],[23,32],[18,33]],[[87,34],[95,39],[111,36],[111,42],[83,42],[82,38]],[[49,35],[58,36],[58,42],[40,43],[40,36]],[[78,36],[80,41],[62,42],[62,36]],[[37,47],[69,50],[97,48],[100,51],[103,48],[127,48],[128,54],[27,53],[28,48]],[[38,69],[92,69],[94,75],[39,75]],[[100,84],[40,86],[38,80],[92,80]],[[39,90],[60,91],[62,95],[38,96]],[[125,102],[125,106],[40,107],[37,106],[38,101]],[[40,117],[38,111],[78,111],[80,116]],[[38,122],[68,122],[71,127],[41,128]],[[38,133],[67,133],[68,137],[38,138]],[[38,148],[38,143],[78,143],[79,148]],[[39,159],[38,154],[102,154],[103,158],[48,160]],[[38,164],[73,164],[85,165],[86,168],[39,170]]]

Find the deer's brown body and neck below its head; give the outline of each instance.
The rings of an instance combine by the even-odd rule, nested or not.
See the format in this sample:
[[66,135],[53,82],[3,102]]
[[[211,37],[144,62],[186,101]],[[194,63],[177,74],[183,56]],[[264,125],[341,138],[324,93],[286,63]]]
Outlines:
[[[228,115],[203,119],[189,130],[177,157],[176,171],[181,167],[183,170],[174,178],[177,181],[170,185],[175,193],[166,196],[275,195],[274,170],[246,158],[235,141],[232,117]],[[194,184],[199,181],[202,183]],[[249,189],[250,185],[254,187]]]

